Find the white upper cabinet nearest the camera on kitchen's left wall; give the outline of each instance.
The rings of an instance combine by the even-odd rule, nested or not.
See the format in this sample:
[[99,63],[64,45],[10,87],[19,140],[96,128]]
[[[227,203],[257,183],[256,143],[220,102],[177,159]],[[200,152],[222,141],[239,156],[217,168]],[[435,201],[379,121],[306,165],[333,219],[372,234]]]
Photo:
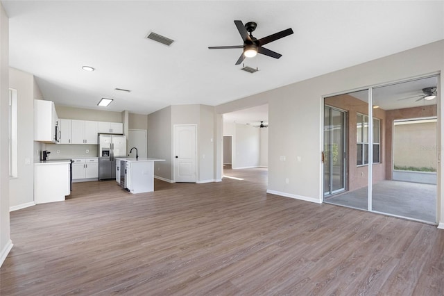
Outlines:
[[34,140],[48,143],[59,142],[59,126],[53,101],[34,100]]

